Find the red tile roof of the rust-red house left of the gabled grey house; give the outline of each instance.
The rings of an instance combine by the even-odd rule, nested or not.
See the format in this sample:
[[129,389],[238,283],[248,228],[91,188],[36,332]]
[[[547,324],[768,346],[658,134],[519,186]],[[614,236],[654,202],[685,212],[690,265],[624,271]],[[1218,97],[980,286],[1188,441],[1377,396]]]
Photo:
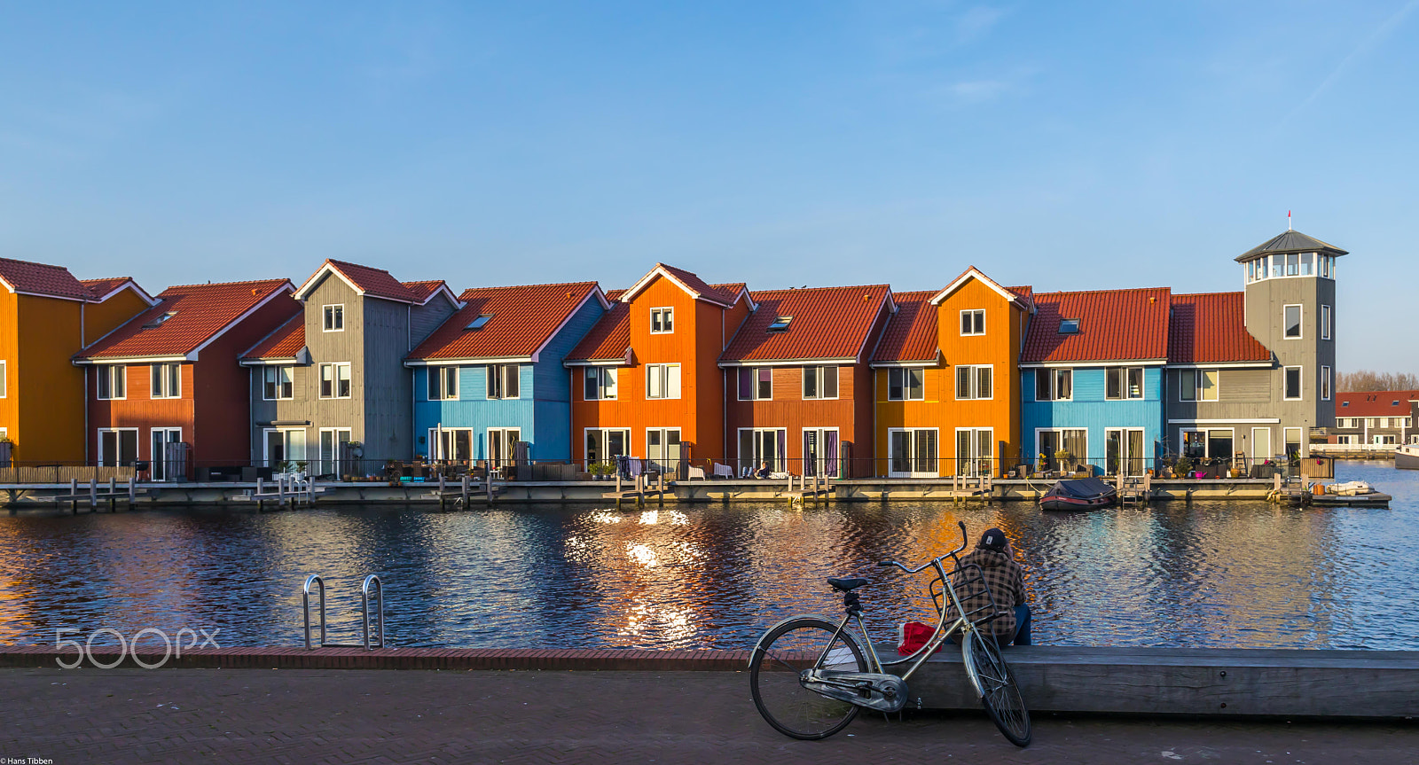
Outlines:
[[[169,287],[158,305],[75,355],[77,359],[183,356],[231,326],[265,299],[291,290],[287,280],[237,281]],[[277,297],[275,299],[282,299]],[[292,311],[298,308],[292,302]],[[172,314],[158,326],[145,326]]]

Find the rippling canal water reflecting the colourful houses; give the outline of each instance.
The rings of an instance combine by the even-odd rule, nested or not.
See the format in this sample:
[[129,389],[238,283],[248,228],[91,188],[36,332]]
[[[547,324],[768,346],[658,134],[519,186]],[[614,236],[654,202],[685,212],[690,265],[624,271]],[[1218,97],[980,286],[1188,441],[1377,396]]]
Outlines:
[[1037,643],[1419,650],[1419,471],[1338,474],[1395,502],[21,512],[0,515],[0,643],[189,627],[297,646],[308,573],[328,585],[332,642],[358,639],[366,573],[385,582],[396,646],[744,649],[786,616],[839,613],[823,578],[846,575],[873,580],[863,599],[885,639],[931,600],[927,579],[874,563],[951,549],[961,519],[972,542],[989,527],[1015,539]]

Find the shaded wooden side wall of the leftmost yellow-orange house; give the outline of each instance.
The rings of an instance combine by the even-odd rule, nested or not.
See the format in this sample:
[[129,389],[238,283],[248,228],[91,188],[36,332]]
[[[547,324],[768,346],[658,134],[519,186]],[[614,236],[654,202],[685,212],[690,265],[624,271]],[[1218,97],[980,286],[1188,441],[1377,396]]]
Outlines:
[[[6,397],[18,427],[10,431],[24,463],[84,461],[84,373],[71,358],[82,348],[84,304],[37,295],[18,298],[14,369]],[[9,365],[7,365],[9,366]]]

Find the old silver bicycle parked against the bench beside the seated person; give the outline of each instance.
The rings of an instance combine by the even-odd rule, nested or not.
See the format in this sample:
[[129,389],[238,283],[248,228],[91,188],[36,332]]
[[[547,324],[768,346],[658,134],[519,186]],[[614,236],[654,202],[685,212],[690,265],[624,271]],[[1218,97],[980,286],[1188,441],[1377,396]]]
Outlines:
[[[880,712],[901,711],[907,705],[907,680],[921,668],[937,649],[952,634],[961,634],[961,660],[966,677],[981,698],[990,721],[1016,747],[1030,744],[1030,712],[1015,681],[1015,674],[1000,656],[1000,646],[993,636],[979,627],[1005,616],[1007,612],[995,605],[995,596],[985,583],[985,573],[975,563],[961,563],[959,554],[966,548],[966,525],[961,527],[961,546],[934,558],[917,568],[908,568],[897,561],[877,563],[883,568],[900,568],[907,573],[920,573],[934,568],[937,578],[927,585],[927,592],[937,606],[937,629],[927,643],[911,656],[897,661],[883,663],[877,656],[866,627],[863,607],[856,592],[870,583],[867,579],[829,579],[827,583],[843,593],[846,613],[836,624],[820,616],[795,616],[769,627],[749,654],[749,688],[753,705],[775,730],[802,739],[827,738],[857,717],[861,710]],[[951,571],[942,561],[951,558]],[[973,571],[972,571],[973,569]],[[961,575],[954,583],[952,578]],[[935,585],[941,582],[941,592]],[[981,589],[976,590],[975,588]],[[958,595],[956,589],[966,589]],[[988,603],[966,612],[962,600],[985,592]],[[946,606],[956,617],[946,624]],[[857,622],[857,633],[867,643],[867,651],[858,646],[849,632],[849,622]],[[900,676],[887,673],[887,667],[911,666]]]

